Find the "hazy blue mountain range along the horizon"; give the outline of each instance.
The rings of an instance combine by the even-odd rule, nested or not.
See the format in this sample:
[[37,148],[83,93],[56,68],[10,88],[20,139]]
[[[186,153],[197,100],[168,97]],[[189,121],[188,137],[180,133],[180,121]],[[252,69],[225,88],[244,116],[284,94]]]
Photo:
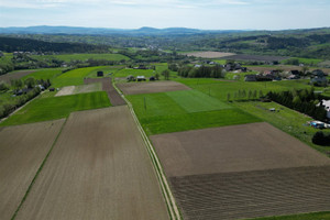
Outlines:
[[182,34],[207,34],[207,33],[238,33],[240,30],[198,30],[186,28],[155,29],[144,26],[141,29],[102,29],[102,28],[77,28],[77,26],[28,26],[28,28],[0,28],[0,34],[84,34],[84,35],[182,35]]

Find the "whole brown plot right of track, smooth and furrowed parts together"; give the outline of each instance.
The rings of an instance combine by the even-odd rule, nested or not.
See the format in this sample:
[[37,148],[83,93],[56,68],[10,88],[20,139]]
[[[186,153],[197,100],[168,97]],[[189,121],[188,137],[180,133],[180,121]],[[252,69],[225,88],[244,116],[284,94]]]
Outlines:
[[329,210],[330,160],[265,122],[151,140],[185,219]]

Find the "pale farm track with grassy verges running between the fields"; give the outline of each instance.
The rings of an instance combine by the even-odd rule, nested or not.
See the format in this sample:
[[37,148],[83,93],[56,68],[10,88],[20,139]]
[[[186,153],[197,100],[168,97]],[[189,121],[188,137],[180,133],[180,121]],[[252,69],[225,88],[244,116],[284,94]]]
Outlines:
[[169,212],[169,217],[170,219],[177,219],[177,220],[180,220],[182,219],[182,216],[180,216],[180,212],[179,212],[179,209],[176,205],[176,201],[175,201],[175,198],[170,191],[170,188],[169,188],[169,185],[168,185],[168,182],[167,182],[167,178],[163,172],[163,167],[161,165],[161,162],[157,157],[157,154],[151,143],[151,141],[148,140],[147,135],[145,134],[136,114],[135,114],[135,111],[132,107],[132,103],[123,96],[123,94],[118,89],[118,87],[114,85],[114,80],[112,80],[112,85],[113,85],[113,88],[117,90],[117,92],[125,100],[125,102],[128,103],[128,108],[138,125],[138,129],[142,135],[142,140],[143,142],[145,143],[145,146],[146,146],[146,150],[147,150],[147,153],[152,160],[152,164],[154,165],[154,170],[156,172],[156,176],[158,178],[158,183],[160,183],[160,186],[161,186],[161,189],[162,189],[162,193],[163,193],[163,196],[165,198],[165,201],[166,201],[166,206],[167,206],[167,209],[168,209],[168,212]]

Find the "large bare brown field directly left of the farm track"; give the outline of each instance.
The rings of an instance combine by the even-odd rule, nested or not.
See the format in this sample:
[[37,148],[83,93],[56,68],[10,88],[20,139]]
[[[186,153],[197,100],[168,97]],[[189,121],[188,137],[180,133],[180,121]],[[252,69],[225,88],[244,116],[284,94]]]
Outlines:
[[69,116],[16,219],[169,219],[127,106]]

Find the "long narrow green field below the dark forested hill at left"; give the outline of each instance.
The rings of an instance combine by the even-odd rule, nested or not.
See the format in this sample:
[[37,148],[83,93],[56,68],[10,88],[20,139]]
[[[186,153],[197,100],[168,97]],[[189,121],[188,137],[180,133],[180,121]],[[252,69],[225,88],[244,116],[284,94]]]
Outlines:
[[36,59],[53,59],[57,58],[64,62],[87,61],[87,59],[106,59],[106,61],[129,61],[130,58],[122,54],[62,54],[62,55],[33,55]]

